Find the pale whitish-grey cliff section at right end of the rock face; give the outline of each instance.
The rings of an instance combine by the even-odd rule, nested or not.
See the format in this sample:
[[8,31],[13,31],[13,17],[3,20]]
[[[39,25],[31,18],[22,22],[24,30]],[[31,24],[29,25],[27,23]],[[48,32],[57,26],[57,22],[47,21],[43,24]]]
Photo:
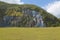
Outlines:
[[38,27],[43,27],[43,18],[42,16],[40,15],[39,12],[36,12],[36,11],[32,11],[33,12],[33,20],[36,22],[36,26]]

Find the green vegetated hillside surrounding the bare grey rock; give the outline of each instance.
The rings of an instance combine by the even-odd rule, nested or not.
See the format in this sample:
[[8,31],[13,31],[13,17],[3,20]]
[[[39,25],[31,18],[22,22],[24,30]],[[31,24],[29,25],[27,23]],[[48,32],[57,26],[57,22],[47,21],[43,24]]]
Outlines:
[[[33,24],[30,23],[30,21],[33,19],[33,17],[30,14],[24,14],[22,13],[22,9],[26,8],[26,9],[30,9],[31,11],[37,11],[41,14],[43,21],[44,21],[44,26],[46,27],[56,27],[56,26],[60,26],[60,20],[55,17],[54,15],[46,12],[44,9],[36,6],[36,5],[32,5],[32,4],[23,4],[23,5],[17,5],[17,4],[7,4],[4,2],[0,2],[0,25],[4,24],[3,22],[3,18],[4,17],[8,17],[8,16],[13,16],[14,19],[19,20],[19,22],[15,23],[17,20],[13,20],[13,21],[8,21],[8,24],[5,24],[5,26],[19,26],[19,27],[27,27],[27,25]],[[27,15],[27,16],[26,16]],[[19,17],[19,18],[18,18]],[[10,24],[10,25],[9,25]],[[32,25],[31,27],[33,27],[35,25]]]

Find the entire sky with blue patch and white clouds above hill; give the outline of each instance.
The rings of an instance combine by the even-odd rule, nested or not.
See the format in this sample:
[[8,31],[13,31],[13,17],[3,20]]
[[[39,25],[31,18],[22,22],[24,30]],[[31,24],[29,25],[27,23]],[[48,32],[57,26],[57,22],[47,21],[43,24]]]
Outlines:
[[60,18],[60,0],[0,0],[10,4],[34,4]]

